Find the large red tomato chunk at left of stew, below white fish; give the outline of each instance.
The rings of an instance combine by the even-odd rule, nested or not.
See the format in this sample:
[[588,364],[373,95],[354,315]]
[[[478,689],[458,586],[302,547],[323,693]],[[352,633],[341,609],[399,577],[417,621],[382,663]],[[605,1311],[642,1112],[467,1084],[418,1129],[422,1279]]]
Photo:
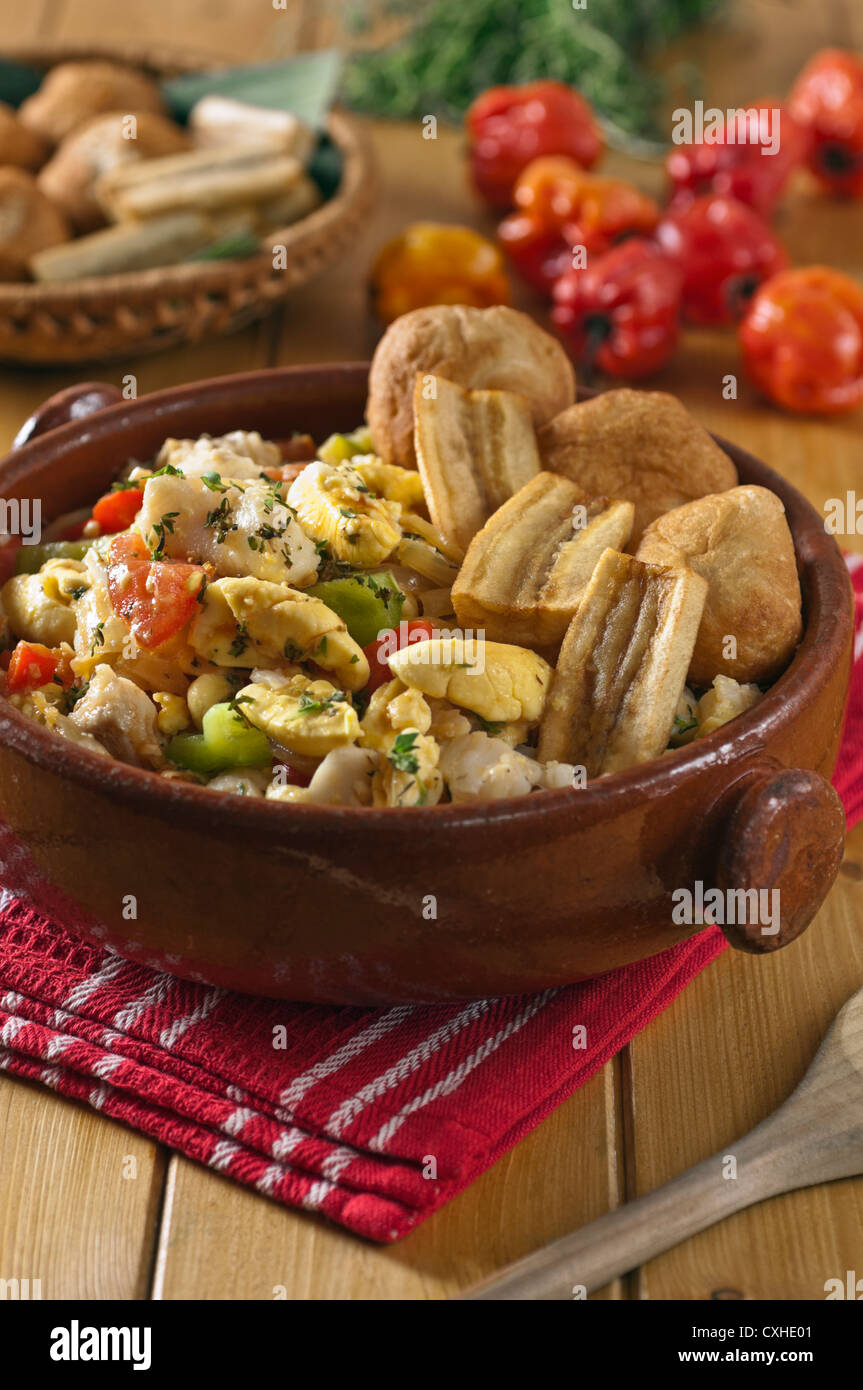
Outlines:
[[175,637],[200,612],[200,564],[153,560],[142,537],[118,535],[108,550],[108,595],[135,639],[147,649]]

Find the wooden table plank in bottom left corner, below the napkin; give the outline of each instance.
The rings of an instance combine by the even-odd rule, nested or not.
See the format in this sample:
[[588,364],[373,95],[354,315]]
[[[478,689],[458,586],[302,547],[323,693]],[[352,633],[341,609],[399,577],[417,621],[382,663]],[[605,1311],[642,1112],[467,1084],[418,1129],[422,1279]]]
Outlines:
[[42,1298],[145,1298],[164,1170],[143,1136],[0,1076],[0,1277],[39,1279]]

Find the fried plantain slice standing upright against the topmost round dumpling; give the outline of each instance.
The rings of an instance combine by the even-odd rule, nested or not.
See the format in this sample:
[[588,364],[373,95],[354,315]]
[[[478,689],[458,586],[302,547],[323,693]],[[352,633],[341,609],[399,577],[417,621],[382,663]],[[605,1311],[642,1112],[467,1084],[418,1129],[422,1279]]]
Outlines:
[[492,512],[539,473],[529,402],[417,373],[414,416],[429,516],[466,550]]

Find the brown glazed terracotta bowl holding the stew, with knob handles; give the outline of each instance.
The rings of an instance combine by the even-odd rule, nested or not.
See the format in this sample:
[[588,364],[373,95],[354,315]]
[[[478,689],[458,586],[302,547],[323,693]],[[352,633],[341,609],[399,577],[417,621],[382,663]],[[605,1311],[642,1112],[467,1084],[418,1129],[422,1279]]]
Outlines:
[[[40,498],[46,520],[86,505],[165,435],[302,430],[320,439],[359,424],[365,385],[364,364],[245,373],[133,402],[85,384],[28,421],[0,463],[0,493]],[[842,853],[827,778],[850,671],[850,585],[799,492],[720,443],[742,482],[785,505],[806,620],[789,669],[727,728],[581,790],[353,809],[167,783],[0,702],[0,881],[175,974],[335,1004],[586,979],[703,930],[673,920],[671,895],[698,883],[778,890],[778,930],[724,930],[752,952],[785,945],[814,916]]]

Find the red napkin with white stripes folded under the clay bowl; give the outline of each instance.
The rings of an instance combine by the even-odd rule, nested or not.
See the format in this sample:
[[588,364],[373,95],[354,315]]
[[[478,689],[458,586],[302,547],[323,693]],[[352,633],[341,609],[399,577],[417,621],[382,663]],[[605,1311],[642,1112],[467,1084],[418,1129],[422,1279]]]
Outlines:
[[[852,826],[863,808],[863,559],[849,569],[855,677],[834,780]],[[710,927],[564,990],[325,1008],[131,965],[1,892],[0,1068],[392,1241],[582,1086],[723,947]]]

